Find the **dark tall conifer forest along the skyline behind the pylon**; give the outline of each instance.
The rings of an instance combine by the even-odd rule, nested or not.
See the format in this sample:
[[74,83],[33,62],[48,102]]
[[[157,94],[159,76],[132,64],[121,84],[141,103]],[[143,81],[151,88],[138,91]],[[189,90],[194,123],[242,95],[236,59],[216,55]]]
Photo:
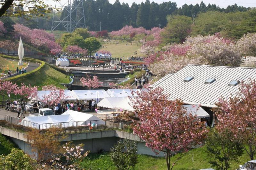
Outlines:
[[[76,3],[79,4],[77,0]],[[136,4],[135,2],[129,6],[127,3],[120,3],[116,0],[114,4],[110,4],[108,0],[85,0],[84,4],[84,15],[86,27],[90,31],[100,31],[101,30],[120,30],[123,26],[133,26],[133,27],[144,27],[150,29],[153,27],[164,27],[167,25],[168,15],[184,15],[191,17],[196,17],[199,13],[204,13],[207,11],[219,11],[224,13],[237,12],[237,11],[248,11],[251,8],[245,8],[243,6],[238,6],[237,4],[228,5],[227,8],[220,8],[215,4],[204,4],[202,1],[200,4],[188,5],[184,4],[182,7],[177,8],[175,2],[163,2],[157,4],[154,1],[150,2],[146,0],[141,4]],[[74,6],[72,4],[72,6]],[[67,7],[62,11],[57,13],[60,19],[67,16]],[[22,10],[22,9],[17,9]],[[79,13],[73,14],[72,18],[81,15]],[[45,14],[45,17],[30,16],[29,19],[25,17],[15,17],[12,18],[14,23],[20,23],[29,28],[39,28],[45,30],[51,30],[52,26],[53,10],[51,13]],[[63,26],[57,28],[57,30],[65,30]]]

